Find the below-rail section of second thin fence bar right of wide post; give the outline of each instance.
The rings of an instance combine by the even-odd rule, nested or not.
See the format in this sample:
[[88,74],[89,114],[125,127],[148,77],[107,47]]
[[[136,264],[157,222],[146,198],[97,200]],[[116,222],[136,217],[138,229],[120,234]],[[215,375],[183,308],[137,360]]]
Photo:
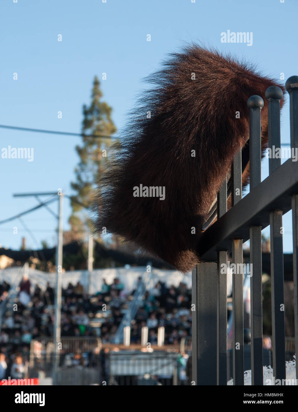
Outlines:
[[[242,239],[232,241],[233,268],[233,383],[244,385],[243,343],[243,253]],[[240,265],[240,266],[238,266]],[[237,267],[240,270],[237,270]],[[240,272],[240,273],[238,273]]]

